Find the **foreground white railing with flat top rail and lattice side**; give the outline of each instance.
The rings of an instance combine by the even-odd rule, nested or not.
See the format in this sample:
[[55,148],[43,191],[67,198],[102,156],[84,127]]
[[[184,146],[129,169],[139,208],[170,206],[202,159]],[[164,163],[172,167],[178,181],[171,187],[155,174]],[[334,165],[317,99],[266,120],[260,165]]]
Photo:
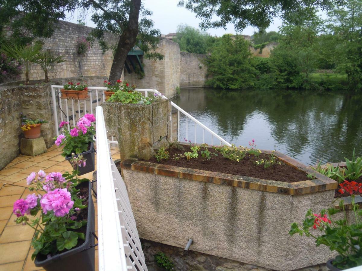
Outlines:
[[98,269],[144,270],[141,248],[127,189],[110,155],[102,107],[96,107]]

